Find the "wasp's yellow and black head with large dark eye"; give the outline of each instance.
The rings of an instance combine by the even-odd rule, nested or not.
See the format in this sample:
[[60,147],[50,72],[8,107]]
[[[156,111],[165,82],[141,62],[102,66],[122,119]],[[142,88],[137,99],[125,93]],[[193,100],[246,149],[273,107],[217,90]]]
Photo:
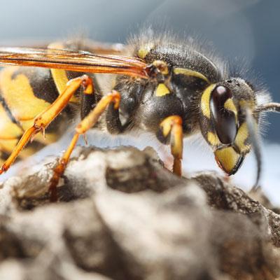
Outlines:
[[[244,80],[231,78],[207,87],[200,102],[200,127],[218,166],[235,174],[251,150],[246,110],[255,111],[255,94]],[[258,116],[253,116],[253,127]]]

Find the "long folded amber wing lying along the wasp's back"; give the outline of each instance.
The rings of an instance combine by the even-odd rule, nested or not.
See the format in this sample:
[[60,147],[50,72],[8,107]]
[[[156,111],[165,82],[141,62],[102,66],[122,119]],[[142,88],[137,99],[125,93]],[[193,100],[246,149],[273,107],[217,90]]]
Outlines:
[[97,55],[53,48],[0,48],[0,66],[36,66],[87,73],[115,73],[147,78],[147,64],[135,57]]

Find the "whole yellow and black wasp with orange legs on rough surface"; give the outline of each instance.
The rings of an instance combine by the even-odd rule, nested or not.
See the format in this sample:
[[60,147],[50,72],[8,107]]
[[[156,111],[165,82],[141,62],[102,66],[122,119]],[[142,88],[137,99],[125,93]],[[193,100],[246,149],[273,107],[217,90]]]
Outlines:
[[[211,52],[170,35],[144,32],[123,48],[90,41],[0,48],[0,66],[8,66],[0,73],[0,174],[18,156],[56,141],[80,109],[71,143],[54,168],[54,200],[78,138],[94,126],[110,134],[152,132],[170,145],[179,176],[183,138],[191,134],[202,134],[228,175],[253,149],[258,181],[260,118],[280,111],[268,92],[230,73]],[[111,92],[102,92],[99,73],[115,74]]]

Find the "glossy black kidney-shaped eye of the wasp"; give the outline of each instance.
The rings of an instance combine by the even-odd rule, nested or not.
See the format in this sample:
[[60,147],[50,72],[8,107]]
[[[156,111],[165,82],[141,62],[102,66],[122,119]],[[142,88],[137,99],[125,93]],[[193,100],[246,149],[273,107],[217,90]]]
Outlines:
[[211,114],[216,134],[223,144],[231,144],[235,141],[237,134],[235,113],[225,109],[225,102],[230,98],[232,98],[230,89],[223,85],[218,85],[212,91],[210,99]]

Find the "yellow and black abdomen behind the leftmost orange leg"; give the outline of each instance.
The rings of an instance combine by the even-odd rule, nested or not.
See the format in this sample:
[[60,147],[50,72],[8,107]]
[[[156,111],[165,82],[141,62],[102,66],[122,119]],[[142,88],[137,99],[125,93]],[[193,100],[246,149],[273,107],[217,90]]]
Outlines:
[[[0,72],[0,160],[6,160],[18,144],[23,132],[33,124],[34,118],[57,99],[63,83],[68,83],[73,76],[80,73],[64,71],[63,75],[52,75],[50,69],[10,66]],[[59,78],[62,78],[59,82]],[[60,84],[59,84],[60,83]],[[59,87],[58,87],[59,84]],[[77,99],[71,100],[77,102]],[[20,154],[25,158],[43,146],[60,137],[65,129],[67,119],[73,116],[70,106],[50,124],[45,137],[36,139]],[[63,120],[63,121],[62,121]]]

